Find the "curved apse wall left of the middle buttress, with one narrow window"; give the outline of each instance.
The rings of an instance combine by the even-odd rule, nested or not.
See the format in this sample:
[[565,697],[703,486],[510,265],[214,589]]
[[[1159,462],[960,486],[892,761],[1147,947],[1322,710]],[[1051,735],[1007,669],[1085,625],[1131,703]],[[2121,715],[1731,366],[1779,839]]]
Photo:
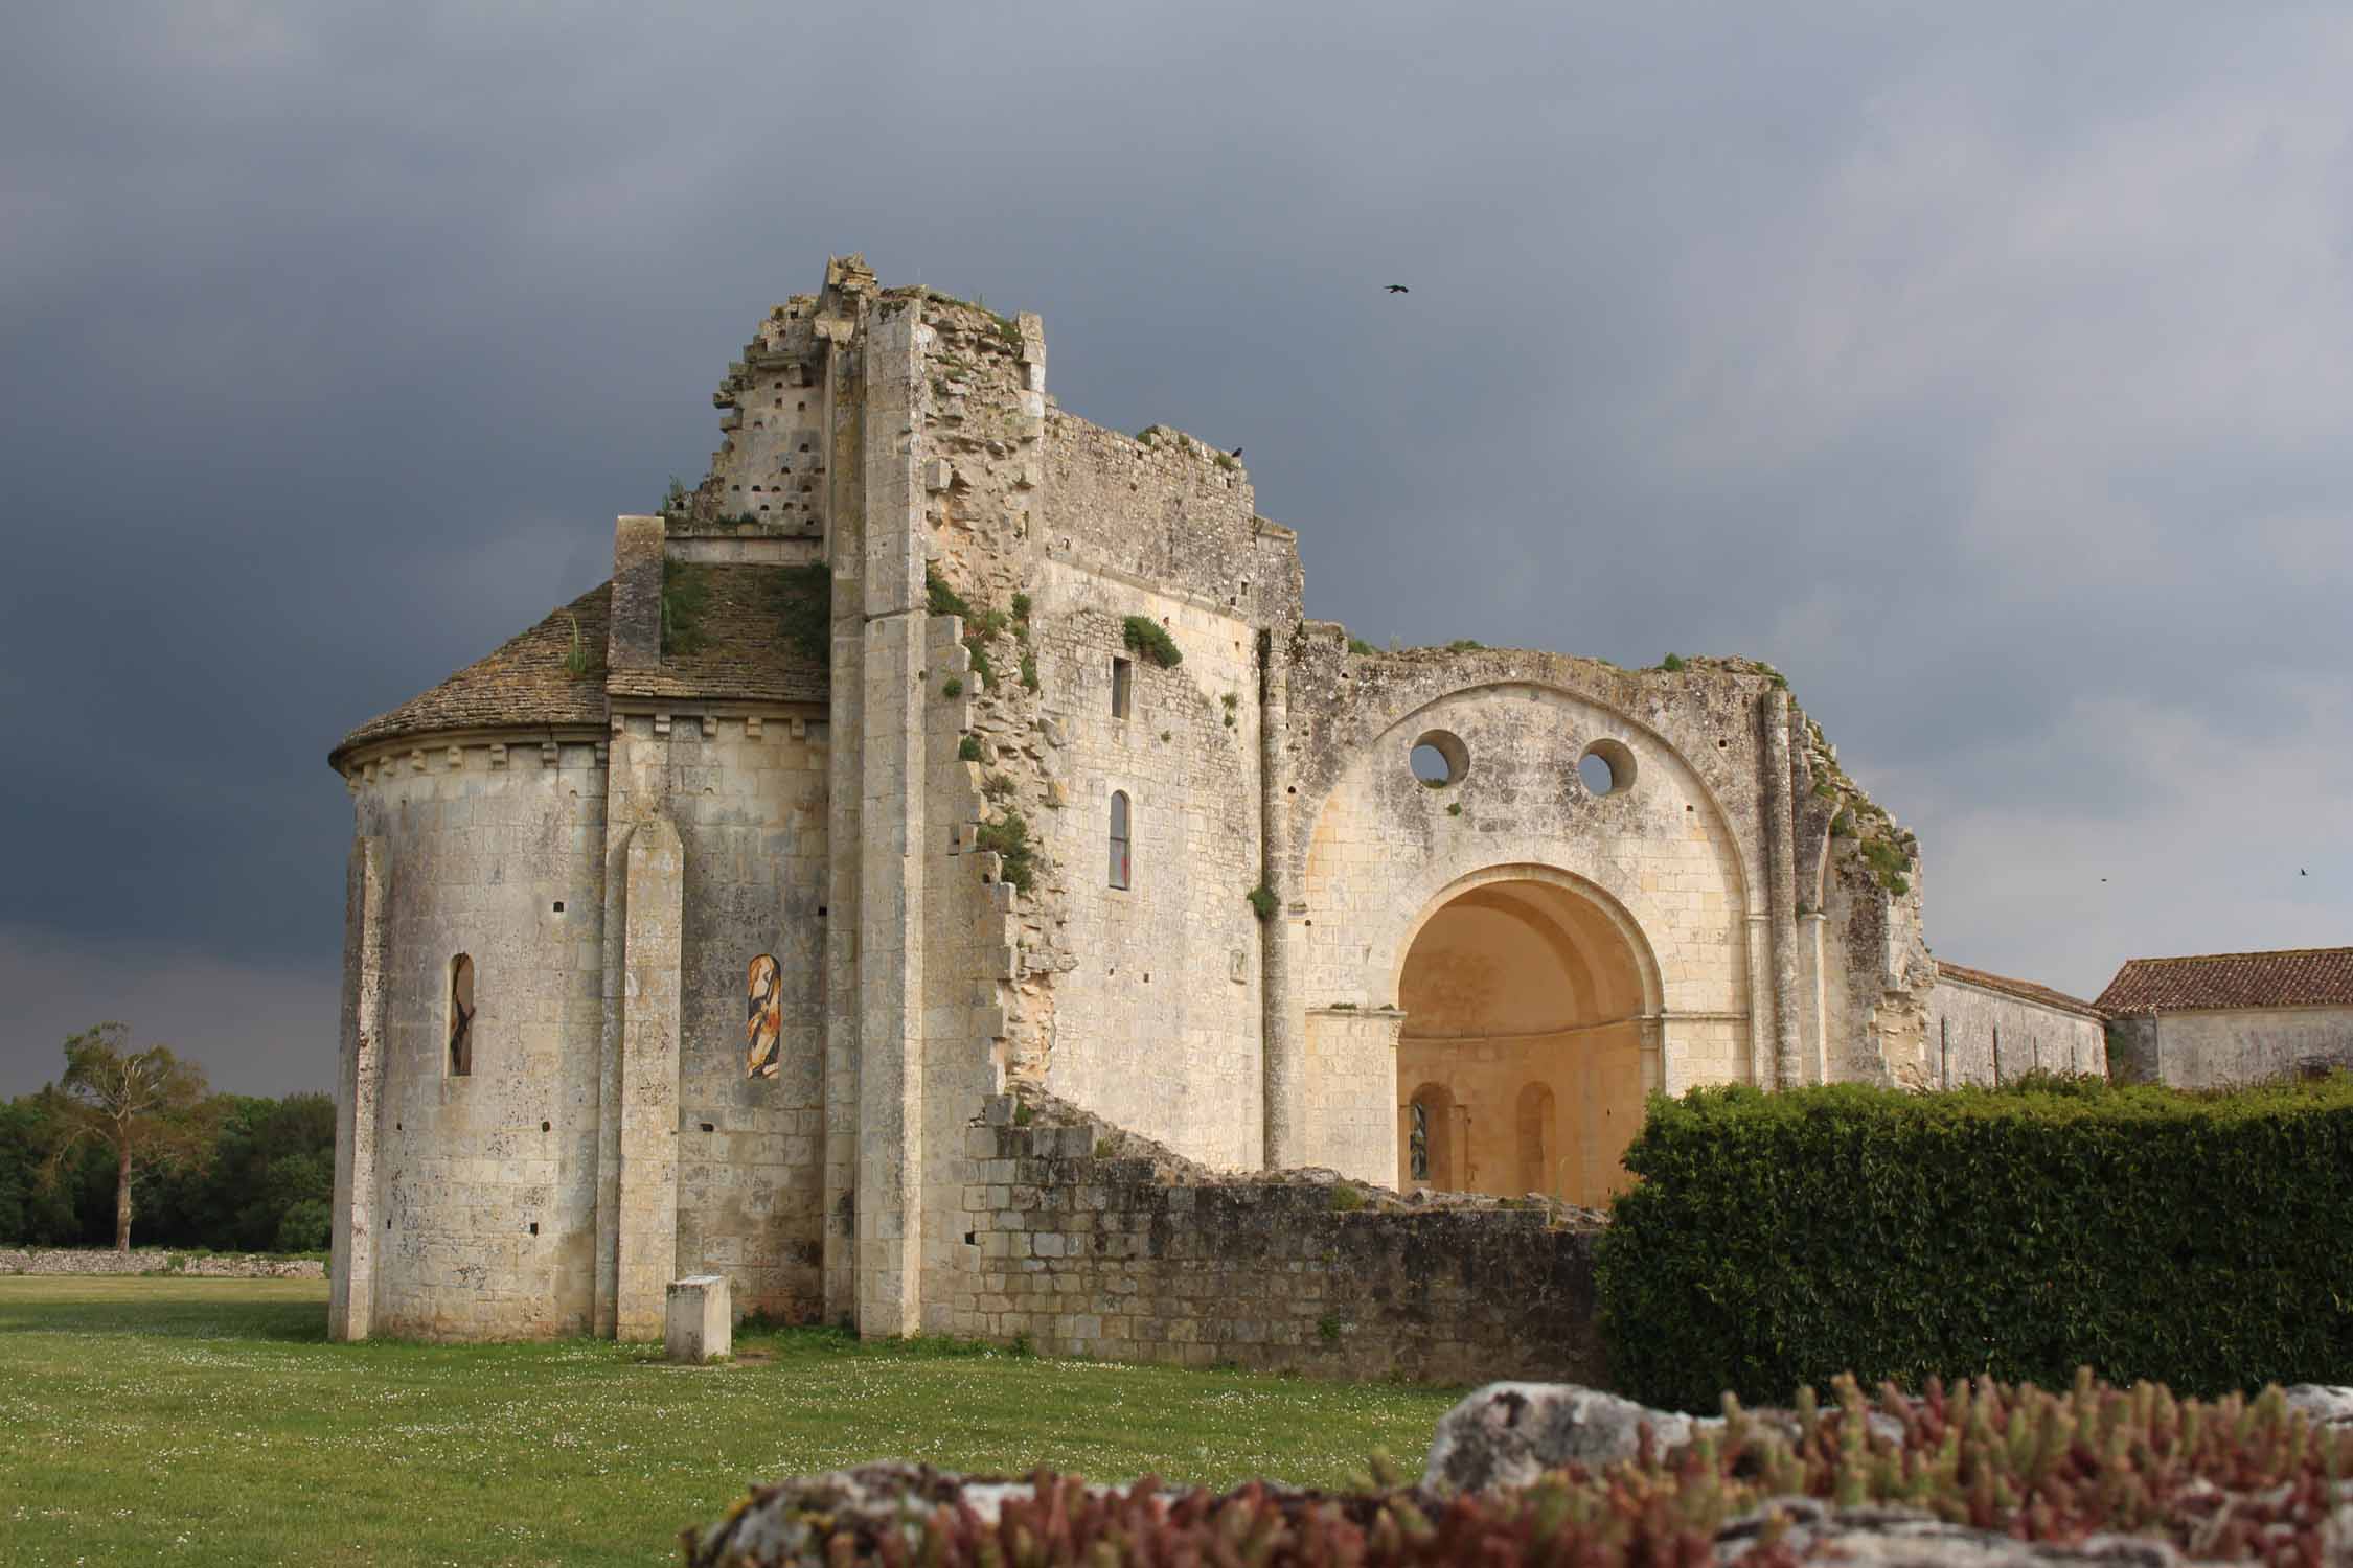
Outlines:
[[[372,1331],[584,1333],[595,1241],[600,745],[402,748],[353,778],[384,844]],[[449,964],[475,966],[449,1072]]]

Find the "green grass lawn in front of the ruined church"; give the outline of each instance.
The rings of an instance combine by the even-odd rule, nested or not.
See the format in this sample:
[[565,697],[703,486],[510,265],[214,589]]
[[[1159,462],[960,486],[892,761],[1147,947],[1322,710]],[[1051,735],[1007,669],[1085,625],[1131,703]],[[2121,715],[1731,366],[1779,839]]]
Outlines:
[[826,1331],[327,1345],[327,1286],[0,1279],[0,1563],[675,1563],[751,1481],[859,1460],[1339,1483],[1447,1389]]

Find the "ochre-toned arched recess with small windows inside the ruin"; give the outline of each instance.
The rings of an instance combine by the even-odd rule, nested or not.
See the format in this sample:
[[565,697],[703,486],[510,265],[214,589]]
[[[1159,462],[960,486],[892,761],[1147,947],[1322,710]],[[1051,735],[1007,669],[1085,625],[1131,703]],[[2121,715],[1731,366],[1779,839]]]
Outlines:
[[1454,893],[1398,976],[1400,1185],[1602,1206],[1642,1126],[1654,1011],[1635,940],[1562,879]]

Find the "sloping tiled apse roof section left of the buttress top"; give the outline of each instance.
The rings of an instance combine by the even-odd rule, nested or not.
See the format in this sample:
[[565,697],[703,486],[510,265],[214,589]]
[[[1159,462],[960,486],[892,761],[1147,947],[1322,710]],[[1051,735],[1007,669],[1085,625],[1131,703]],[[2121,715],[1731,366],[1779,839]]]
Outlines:
[[[344,736],[327,757],[344,757],[374,741],[424,736],[445,729],[539,729],[605,722],[605,623],[612,611],[612,583],[591,588],[546,621],[508,637],[487,658],[478,658],[442,684],[412,696],[400,708],[376,715]],[[572,628],[588,668],[572,675]]]

